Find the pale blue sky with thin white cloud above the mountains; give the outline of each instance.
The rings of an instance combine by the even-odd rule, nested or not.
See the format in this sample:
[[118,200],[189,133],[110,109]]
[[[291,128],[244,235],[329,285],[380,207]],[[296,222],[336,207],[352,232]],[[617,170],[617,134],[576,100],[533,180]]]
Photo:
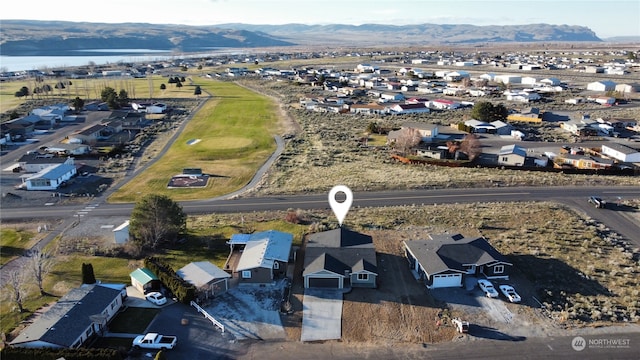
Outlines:
[[601,38],[640,36],[640,0],[29,0],[2,19],[156,24],[581,25]]

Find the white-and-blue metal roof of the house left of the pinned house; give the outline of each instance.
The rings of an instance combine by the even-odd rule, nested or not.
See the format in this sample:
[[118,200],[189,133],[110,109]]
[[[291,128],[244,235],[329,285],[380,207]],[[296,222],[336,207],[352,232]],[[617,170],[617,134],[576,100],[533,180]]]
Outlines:
[[242,256],[238,261],[237,271],[258,267],[273,268],[275,260],[289,261],[293,234],[268,230],[251,234]]

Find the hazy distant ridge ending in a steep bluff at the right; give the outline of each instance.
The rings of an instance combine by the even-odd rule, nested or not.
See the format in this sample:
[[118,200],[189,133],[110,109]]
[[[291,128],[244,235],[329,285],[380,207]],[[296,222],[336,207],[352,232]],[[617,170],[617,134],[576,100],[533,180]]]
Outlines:
[[472,44],[486,42],[602,41],[584,26],[569,25],[249,25],[220,24],[225,29],[260,31],[297,44]]

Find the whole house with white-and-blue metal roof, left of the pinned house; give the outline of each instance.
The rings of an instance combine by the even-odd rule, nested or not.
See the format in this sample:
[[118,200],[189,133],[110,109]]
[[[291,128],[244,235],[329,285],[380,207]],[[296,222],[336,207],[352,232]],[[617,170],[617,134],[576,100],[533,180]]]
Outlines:
[[286,275],[292,242],[293,234],[275,230],[235,234],[227,242],[231,251],[224,269],[241,283],[271,283]]

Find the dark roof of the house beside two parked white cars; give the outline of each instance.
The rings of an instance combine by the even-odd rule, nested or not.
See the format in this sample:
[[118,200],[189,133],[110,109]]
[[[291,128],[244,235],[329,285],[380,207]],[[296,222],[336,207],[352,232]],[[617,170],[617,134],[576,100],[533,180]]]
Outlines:
[[483,237],[443,234],[431,235],[430,238],[405,241],[405,246],[429,275],[445,271],[466,272],[468,265],[481,266],[496,262],[511,265]]

